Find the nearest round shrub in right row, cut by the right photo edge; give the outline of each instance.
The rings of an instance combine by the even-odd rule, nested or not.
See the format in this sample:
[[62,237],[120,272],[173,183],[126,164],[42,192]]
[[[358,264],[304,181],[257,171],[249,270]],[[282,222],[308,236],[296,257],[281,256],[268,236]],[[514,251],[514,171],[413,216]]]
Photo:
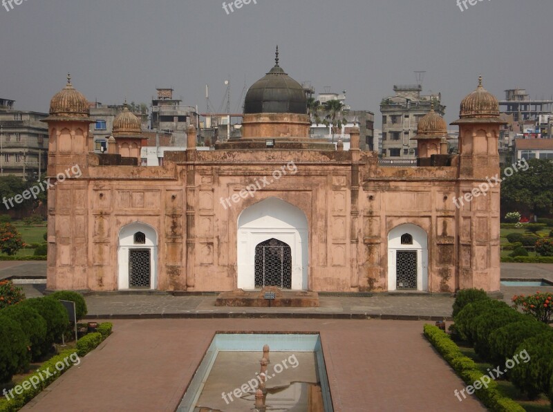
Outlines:
[[553,373],[553,334],[544,333],[525,339],[515,350],[515,354],[526,351],[528,362],[519,362],[511,370],[511,382],[530,399],[540,393],[549,393]]

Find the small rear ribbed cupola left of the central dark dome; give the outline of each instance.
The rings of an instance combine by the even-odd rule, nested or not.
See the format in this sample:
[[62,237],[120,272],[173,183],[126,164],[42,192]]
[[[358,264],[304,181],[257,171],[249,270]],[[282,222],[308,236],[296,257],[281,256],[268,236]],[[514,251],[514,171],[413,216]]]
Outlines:
[[117,142],[117,152],[122,157],[140,159],[142,124],[140,119],[129,111],[126,101],[123,111],[113,120],[113,138]]

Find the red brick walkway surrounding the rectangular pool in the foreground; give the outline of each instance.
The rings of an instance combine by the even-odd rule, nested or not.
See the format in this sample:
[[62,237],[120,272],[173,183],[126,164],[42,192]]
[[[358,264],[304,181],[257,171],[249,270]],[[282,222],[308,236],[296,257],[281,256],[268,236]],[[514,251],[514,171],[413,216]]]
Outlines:
[[335,411],[484,411],[422,335],[423,321],[158,319],[114,333],[23,411],[174,411],[216,330],[319,331]]

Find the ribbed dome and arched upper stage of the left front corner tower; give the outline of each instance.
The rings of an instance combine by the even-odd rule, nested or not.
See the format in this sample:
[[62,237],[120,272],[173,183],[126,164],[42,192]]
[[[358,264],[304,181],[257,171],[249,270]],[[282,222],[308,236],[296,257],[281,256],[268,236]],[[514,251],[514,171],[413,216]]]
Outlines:
[[67,84],[50,101],[48,123],[48,175],[55,176],[74,165],[86,167],[88,124],[93,123],[86,97]]

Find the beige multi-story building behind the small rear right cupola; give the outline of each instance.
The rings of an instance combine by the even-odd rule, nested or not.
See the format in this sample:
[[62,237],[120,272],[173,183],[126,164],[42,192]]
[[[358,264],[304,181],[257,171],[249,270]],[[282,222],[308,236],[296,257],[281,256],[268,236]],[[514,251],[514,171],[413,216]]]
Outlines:
[[421,95],[422,86],[395,85],[395,95],[384,97],[380,103],[382,113],[382,147],[384,158],[413,160],[417,158],[417,141],[412,138],[417,133],[418,122],[431,110],[444,115],[442,95]]

